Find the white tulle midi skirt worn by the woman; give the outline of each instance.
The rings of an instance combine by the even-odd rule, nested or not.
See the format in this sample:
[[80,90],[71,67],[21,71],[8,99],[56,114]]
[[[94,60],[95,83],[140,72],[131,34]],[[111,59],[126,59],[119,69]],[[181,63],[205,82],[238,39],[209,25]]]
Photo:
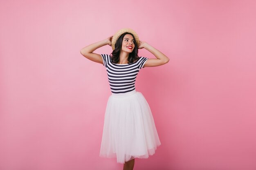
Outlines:
[[148,158],[161,145],[154,119],[142,93],[112,93],[106,106],[100,157],[117,163]]

